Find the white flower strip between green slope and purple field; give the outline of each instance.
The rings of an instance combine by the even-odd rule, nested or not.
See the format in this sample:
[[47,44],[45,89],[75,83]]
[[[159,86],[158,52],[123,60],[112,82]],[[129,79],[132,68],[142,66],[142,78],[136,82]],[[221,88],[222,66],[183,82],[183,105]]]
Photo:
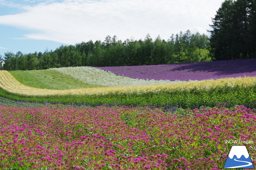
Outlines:
[[[88,84],[95,84],[99,86],[107,87],[130,87],[130,86],[144,86],[153,84],[173,84],[173,83],[184,83],[187,81],[169,81],[169,80],[143,80],[133,79],[130,77],[124,77],[116,75],[112,72],[102,70],[94,67],[62,67],[62,68],[51,68],[61,73],[68,74],[75,79]],[[196,80],[195,80],[196,81]]]

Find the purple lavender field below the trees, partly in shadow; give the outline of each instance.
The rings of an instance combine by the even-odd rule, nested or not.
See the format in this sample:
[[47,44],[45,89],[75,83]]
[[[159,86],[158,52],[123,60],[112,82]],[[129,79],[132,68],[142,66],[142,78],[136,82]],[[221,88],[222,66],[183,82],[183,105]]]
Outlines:
[[118,75],[145,80],[207,80],[226,77],[256,76],[256,59],[96,68],[108,70]]

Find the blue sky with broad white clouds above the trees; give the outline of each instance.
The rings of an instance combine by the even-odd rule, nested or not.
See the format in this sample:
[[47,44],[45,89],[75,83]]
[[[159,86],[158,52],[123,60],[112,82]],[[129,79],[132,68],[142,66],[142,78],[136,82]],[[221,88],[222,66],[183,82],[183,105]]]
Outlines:
[[89,40],[139,40],[199,32],[224,0],[0,0],[0,55],[55,50]]

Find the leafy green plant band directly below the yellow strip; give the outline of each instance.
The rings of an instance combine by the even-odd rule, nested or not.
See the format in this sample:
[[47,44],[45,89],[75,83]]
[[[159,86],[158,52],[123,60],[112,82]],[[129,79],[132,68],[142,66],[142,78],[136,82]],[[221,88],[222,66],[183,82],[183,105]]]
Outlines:
[[109,106],[156,106],[156,107],[181,107],[183,109],[193,109],[195,107],[216,107],[217,103],[226,103],[227,108],[237,105],[244,105],[249,108],[256,108],[256,89],[227,89],[222,91],[204,92],[183,92],[183,93],[144,93],[143,95],[90,95],[90,96],[45,96],[45,97],[25,97],[8,94],[0,89],[0,96],[15,101],[28,101],[39,103],[76,103],[78,105],[99,106],[107,104]]

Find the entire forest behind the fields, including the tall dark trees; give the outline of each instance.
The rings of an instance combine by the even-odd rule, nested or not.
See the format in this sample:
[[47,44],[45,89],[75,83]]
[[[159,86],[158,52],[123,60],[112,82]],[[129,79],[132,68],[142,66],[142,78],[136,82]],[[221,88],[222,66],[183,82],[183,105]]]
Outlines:
[[106,36],[102,42],[92,40],[60,46],[45,52],[0,55],[1,70],[34,70],[75,66],[138,66],[230,60],[256,57],[256,0],[225,0],[212,18],[210,37],[200,33],[172,34],[168,40],[160,35],[154,40]]

